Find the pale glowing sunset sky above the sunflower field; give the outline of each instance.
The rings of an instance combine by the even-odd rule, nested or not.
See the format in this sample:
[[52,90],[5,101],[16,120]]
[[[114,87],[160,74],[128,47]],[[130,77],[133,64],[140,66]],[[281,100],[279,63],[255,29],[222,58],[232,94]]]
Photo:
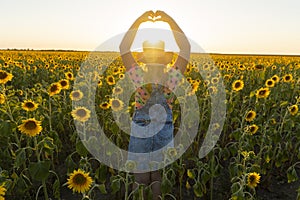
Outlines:
[[[1,0],[0,49],[117,50],[141,14],[163,10],[192,50],[300,55],[299,9],[298,0]],[[163,22],[146,28],[170,30]]]

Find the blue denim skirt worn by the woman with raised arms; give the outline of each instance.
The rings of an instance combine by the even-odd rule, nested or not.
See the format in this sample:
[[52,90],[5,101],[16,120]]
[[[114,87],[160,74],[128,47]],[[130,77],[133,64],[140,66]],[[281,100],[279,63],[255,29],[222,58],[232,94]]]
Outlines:
[[[174,147],[172,110],[160,98],[158,98],[157,103],[164,108],[166,114],[163,121],[153,122],[156,118],[152,117],[152,123],[155,124],[155,127],[161,127],[158,131],[155,130],[155,127],[150,126],[149,107],[151,105],[136,110],[132,117],[127,160],[135,161],[139,170],[149,169],[150,163],[153,162],[162,164],[164,161],[163,151],[168,147]],[[156,114],[160,115],[160,113]],[[147,137],[147,135],[150,135],[150,137]]]

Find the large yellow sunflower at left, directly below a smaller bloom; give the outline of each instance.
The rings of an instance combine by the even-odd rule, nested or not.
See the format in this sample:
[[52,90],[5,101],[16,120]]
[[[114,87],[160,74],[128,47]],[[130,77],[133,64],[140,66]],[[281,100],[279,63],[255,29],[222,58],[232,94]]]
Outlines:
[[22,124],[18,126],[18,129],[21,133],[30,137],[38,135],[43,130],[41,122],[34,118],[22,120]]

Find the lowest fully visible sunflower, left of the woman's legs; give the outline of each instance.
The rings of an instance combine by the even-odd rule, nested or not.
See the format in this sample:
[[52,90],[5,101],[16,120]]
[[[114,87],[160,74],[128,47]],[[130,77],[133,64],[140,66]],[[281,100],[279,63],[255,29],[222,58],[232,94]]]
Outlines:
[[73,192],[85,193],[92,185],[92,178],[89,173],[84,172],[81,169],[74,170],[68,178],[68,188],[73,190]]

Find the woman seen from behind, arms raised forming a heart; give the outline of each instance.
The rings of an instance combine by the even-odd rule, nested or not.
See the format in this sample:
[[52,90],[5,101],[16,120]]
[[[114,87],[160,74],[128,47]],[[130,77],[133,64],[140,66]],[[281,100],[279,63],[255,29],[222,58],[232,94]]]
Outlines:
[[[147,21],[163,21],[169,24],[175,41],[179,47],[179,54],[169,68],[166,66],[172,60],[172,55],[164,51],[164,42],[151,44],[143,42],[143,52],[139,57],[140,62],[145,63],[145,73],[135,60],[130,48],[141,23]],[[149,166],[145,166],[147,156],[133,156],[134,153],[155,152],[163,147],[173,146],[173,117],[172,103],[174,96],[172,90],[180,80],[176,80],[176,74],[184,73],[190,56],[190,44],[177,23],[163,11],[147,11],[142,14],[125,34],[121,44],[120,53],[126,70],[136,86],[135,111],[132,117],[131,136],[129,142],[128,160],[137,162],[137,169],[143,173],[135,173],[137,184],[151,184],[153,198],[159,199],[161,176],[158,170],[144,172]],[[145,154],[143,154],[145,155]],[[163,155],[150,158],[151,161],[161,162]],[[134,188],[137,187],[134,184]]]

